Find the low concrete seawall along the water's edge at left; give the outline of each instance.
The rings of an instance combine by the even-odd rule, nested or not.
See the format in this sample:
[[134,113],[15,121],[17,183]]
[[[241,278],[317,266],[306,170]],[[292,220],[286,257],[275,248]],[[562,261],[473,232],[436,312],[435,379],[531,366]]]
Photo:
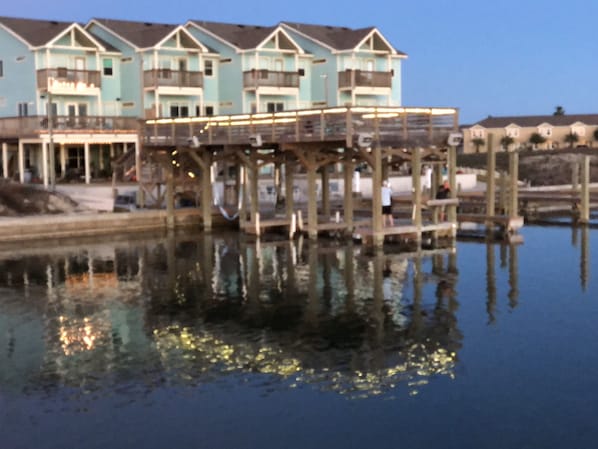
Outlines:
[[[0,218],[0,242],[99,236],[166,230],[165,210],[75,213]],[[201,226],[197,209],[175,211],[175,227]]]

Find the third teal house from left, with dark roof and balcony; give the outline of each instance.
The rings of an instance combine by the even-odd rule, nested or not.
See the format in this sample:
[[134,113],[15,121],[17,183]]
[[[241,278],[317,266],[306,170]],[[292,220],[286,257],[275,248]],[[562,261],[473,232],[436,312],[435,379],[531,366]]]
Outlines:
[[220,55],[220,114],[311,107],[312,57],[281,26],[191,20],[186,27]]

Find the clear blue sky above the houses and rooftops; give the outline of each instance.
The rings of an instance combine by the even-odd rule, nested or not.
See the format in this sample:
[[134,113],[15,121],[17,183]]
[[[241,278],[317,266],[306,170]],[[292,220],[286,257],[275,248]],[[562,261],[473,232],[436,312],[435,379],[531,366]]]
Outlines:
[[408,55],[404,106],[456,107],[461,124],[490,115],[550,115],[556,106],[567,114],[598,113],[596,0],[19,0],[4,1],[0,15],[374,26]]

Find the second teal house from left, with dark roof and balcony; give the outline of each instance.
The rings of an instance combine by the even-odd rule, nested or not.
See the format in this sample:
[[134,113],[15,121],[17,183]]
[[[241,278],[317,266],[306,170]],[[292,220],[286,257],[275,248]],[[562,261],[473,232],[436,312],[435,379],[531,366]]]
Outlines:
[[[212,67],[218,55],[185,27],[92,19],[85,28],[122,54],[123,115],[155,118],[213,113],[217,93],[206,80],[214,78]],[[214,92],[206,93],[210,90]]]

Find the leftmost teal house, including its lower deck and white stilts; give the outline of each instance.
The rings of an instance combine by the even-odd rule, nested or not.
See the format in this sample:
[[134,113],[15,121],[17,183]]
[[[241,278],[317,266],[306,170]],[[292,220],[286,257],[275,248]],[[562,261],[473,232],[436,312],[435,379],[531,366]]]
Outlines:
[[[77,23],[0,17],[2,172],[89,182],[138,139],[117,106],[120,53]],[[54,146],[56,145],[56,147]],[[55,152],[48,158],[50,150]]]

